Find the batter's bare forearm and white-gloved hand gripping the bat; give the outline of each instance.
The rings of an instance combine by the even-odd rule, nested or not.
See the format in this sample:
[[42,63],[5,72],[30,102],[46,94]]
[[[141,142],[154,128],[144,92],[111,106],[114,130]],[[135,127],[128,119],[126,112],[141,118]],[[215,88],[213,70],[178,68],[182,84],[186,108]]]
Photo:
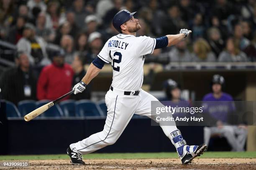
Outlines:
[[100,68],[96,67],[94,64],[91,63],[81,82],[77,83],[73,87],[74,94],[83,92],[86,89],[86,86],[90,83],[90,81],[99,74],[100,70]]

